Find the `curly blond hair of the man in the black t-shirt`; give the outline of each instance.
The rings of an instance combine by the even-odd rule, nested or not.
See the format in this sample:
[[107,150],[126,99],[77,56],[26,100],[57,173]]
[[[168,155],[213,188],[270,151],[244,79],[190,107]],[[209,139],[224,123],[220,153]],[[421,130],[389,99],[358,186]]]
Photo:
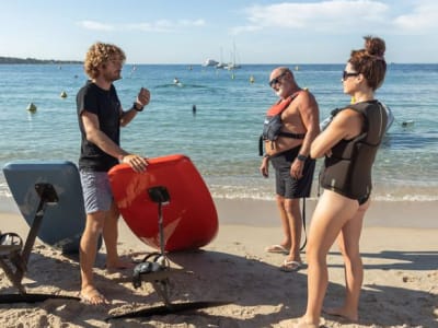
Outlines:
[[123,61],[126,60],[125,52],[119,47],[112,44],[95,43],[85,55],[83,67],[87,75],[91,79],[96,79],[99,75],[99,67],[114,58]]

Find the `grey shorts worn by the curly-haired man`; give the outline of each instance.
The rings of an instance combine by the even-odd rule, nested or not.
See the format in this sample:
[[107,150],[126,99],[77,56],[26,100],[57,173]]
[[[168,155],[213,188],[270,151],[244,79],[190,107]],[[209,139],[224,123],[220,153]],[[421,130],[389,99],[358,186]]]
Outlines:
[[83,201],[87,214],[110,211],[113,192],[106,172],[80,171]]

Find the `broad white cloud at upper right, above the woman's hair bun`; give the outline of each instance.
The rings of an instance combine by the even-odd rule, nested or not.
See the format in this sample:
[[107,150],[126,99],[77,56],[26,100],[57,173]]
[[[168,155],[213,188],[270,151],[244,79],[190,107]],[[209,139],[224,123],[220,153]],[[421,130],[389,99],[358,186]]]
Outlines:
[[[438,27],[436,0],[410,1],[410,14],[397,16],[407,2],[373,0],[325,0],[321,2],[281,2],[245,9],[247,24],[232,28],[234,34],[263,28],[346,34],[364,30],[382,33],[431,34]],[[390,5],[394,5],[391,8]]]

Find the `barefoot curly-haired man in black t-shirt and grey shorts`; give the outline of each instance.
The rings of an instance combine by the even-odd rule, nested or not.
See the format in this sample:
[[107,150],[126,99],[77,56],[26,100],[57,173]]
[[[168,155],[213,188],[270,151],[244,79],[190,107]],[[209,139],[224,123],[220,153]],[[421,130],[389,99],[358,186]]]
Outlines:
[[87,212],[79,253],[81,297],[94,305],[108,302],[93,282],[93,266],[101,234],[106,246],[106,269],[131,267],[117,253],[119,212],[107,172],[118,163],[129,164],[136,172],[143,172],[148,165],[143,156],[131,154],[119,145],[120,127],[129,124],[150,101],[150,92],[141,87],[132,106],[123,110],[113,82],[122,78],[125,59],[124,51],[115,45],[92,45],[84,61],[90,80],[77,95],[81,131],[79,172]]

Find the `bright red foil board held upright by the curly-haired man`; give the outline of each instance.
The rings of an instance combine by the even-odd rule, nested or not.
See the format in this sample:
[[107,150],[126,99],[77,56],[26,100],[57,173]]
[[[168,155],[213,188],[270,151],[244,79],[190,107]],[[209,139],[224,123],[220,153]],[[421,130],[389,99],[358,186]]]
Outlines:
[[148,190],[165,187],[170,201],[162,206],[168,251],[196,249],[218,232],[218,215],[210,191],[189,157],[173,154],[148,159],[143,173],[128,164],[114,166],[108,175],[113,195],[129,229],[145,244],[160,248],[159,203]]

